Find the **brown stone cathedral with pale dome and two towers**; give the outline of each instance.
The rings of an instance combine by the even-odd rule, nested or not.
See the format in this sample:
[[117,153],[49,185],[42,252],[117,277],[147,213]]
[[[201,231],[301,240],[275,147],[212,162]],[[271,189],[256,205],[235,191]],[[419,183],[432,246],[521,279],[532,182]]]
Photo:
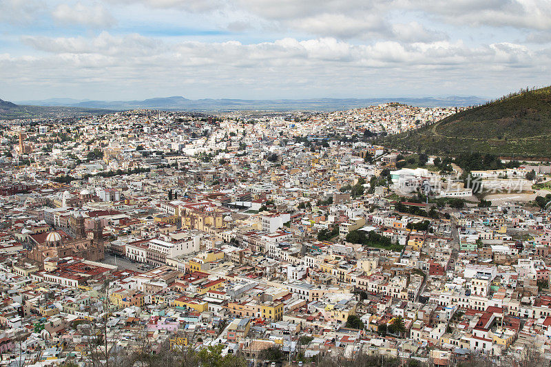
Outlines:
[[86,234],[84,217],[81,212],[73,212],[70,216],[70,232],[73,237],[63,231],[52,231],[45,240],[36,240],[27,253],[27,258],[43,264],[46,258],[65,258],[78,256],[90,261],[101,261],[104,258],[103,225],[101,220],[94,220],[94,229]]

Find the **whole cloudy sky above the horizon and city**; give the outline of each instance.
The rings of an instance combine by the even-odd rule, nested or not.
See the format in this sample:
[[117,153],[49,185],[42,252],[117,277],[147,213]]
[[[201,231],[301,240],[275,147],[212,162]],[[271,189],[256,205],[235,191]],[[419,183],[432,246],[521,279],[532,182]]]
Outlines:
[[0,0],[0,98],[475,95],[551,84],[549,0]]

